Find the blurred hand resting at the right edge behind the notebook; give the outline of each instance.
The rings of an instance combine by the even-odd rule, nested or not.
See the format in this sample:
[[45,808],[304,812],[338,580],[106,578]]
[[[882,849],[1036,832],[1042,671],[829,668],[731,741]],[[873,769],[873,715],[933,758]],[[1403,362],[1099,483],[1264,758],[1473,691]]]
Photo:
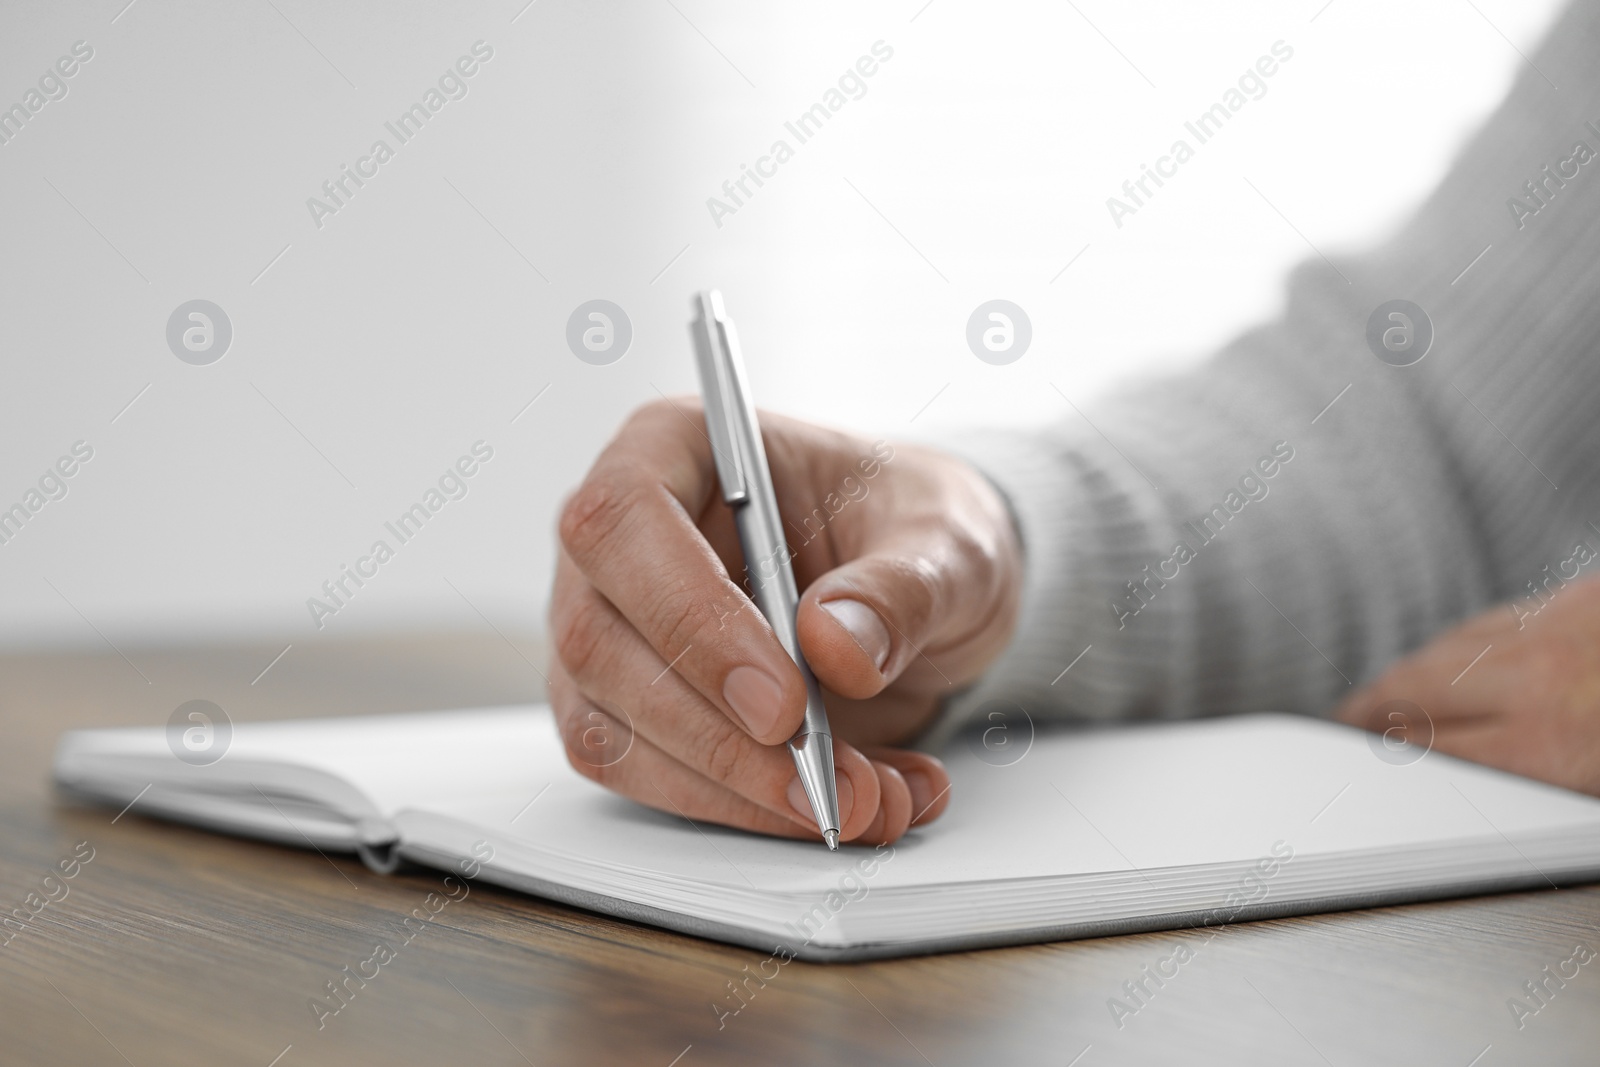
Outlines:
[[1336,717],[1382,731],[1394,725],[1382,705],[1395,699],[1427,712],[1440,752],[1600,795],[1600,579],[1490,608],[1392,665]]

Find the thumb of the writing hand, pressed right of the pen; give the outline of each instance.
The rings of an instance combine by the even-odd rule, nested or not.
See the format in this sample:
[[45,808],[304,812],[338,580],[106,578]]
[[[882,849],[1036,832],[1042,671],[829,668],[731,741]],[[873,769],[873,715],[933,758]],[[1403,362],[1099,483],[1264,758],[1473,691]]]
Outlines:
[[883,691],[946,637],[952,605],[978,592],[966,569],[947,549],[907,544],[869,552],[811,582],[795,625],[818,681],[854,701]]

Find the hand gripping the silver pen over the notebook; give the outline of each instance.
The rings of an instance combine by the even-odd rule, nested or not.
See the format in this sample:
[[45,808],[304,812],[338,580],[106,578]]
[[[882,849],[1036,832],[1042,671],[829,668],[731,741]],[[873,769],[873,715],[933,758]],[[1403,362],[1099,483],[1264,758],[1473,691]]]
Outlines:
[[[774,414],[762,435],[834,728],[840,838],[893,841],[949,803],[944,765],[891,745],[1010,638],[1016,533],[954,458]],[[746,595],[699,403],[634,413],[566,502],[560,541],[550,704],[573,766],[651,808],[818,838],[784,745],[805,683]]]

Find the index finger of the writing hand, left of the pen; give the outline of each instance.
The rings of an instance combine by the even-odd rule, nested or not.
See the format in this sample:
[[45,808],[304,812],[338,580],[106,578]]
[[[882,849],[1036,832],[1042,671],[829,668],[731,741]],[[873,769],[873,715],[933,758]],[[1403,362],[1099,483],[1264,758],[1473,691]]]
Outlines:
[[670,670],[779,744],[805,717],[805,681],[696,523],[720,507],[715,485],[699,405],[651,403],[566,502],[562,545]]

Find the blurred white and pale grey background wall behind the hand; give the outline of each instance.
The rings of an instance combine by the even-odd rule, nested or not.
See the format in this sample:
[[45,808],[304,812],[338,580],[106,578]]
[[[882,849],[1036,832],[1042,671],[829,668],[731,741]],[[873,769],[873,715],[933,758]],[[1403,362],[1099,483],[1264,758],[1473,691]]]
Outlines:
[[[891,437],[1062,418],[1043,382],[1093,395],[1274,312],[1310,253],[1245,178],[1325,253],[1376,240],[1555,11],[525,2],[0,10],[0,104],[94,48],[0,147],[0,506],[94,448],[0,545],[0,641],[538,627],[558,499],[630,408],[694,389],[704,285],[766,406]],[[480,38],[469,94],[318,230],[306,198]],[[706,198],[877,40],[866,96],[717,227]],[[1277,40],[1267,94],[1114,227],[1106,197]],[[597,296],[635,330],[610,366],[563,344]],[[963,339],[997,296],[1034,322],[1005,368]],[[192,298],[234,325],[211,366],[165,342]],[[469,496],[314,629],[306,598],[480,438]]]

